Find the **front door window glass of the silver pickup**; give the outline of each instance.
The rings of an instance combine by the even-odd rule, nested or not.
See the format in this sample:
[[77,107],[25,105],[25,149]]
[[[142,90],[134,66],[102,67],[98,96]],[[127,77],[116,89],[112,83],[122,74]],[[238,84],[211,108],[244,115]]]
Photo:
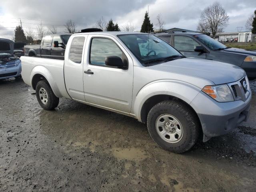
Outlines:
[[122,51],[116,43],[106,38],[93,38],[90,49],[90,64],[106,66],[105,58],[118,56],[122,58]]

